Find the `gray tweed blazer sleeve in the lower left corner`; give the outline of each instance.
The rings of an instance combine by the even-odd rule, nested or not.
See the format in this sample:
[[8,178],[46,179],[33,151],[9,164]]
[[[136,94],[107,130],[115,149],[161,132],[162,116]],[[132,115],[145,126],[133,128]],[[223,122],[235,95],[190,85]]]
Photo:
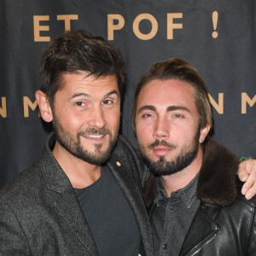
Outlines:
[[26,235],[15,213],[0,201],[0,255],[30,255]]

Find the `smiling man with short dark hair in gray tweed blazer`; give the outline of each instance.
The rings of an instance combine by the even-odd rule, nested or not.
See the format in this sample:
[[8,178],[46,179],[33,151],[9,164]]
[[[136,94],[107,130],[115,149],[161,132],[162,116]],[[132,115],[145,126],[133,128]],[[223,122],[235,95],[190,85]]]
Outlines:
[[153,255],[142,162],[118,138],[124,63],[83,31],[57,37],[36,92],[43,154],[0,195],[1,255]]

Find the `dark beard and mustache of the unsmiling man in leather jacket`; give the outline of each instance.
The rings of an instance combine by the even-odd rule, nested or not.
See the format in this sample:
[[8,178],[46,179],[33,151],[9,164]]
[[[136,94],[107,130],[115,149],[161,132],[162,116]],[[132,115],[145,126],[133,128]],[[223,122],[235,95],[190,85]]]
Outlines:
[[[193,142],[189,145],[185,145],[181,149],[180,154],[178,154],[174,160],[170,161],[166,161],[165,156],[160,156],[160,159],[157,161],[150,160],[146,154],[145,148],[139,145],[143,161],[148,166],[149,171],[155,176],[172,175],[173,173],[180,172],[189,166],[192,161],[195,160],[198,153],[200,132],[200,129],[198,129]],[[166,148],[177,148],[173,144],[166,143],[165,140],[156,140],[154,143],[149,145],[148,148],[154,148],[159,145],[165,146]]]

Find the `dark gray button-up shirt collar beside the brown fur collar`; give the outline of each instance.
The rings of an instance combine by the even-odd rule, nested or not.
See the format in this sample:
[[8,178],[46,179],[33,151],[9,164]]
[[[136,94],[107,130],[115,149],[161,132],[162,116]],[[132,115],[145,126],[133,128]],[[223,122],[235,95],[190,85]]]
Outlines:
[[191,207],[193,201],[195,201],[196,198],[196,187],[197,187],[197,181],[198,181],[199,173],[191,180],[191,182],[184,187],[183,189],[178,189],[177,191],[172,192],[171,197],[168,198],[166,195],[166,191],[164,189],[163,183],[160,179],[160,177],[157,178],[157,196],[156,196],[156,204],[159,206],[160,201],[170,198],[177,198],[180,197],[183,201],[183,203],[186,205],[186,207]]

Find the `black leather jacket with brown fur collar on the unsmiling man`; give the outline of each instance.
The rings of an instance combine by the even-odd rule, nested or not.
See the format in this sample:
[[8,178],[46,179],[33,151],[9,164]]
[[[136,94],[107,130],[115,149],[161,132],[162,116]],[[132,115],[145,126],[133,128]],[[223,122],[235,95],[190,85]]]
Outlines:
[[[207,143],[197,185],[201,205],[179,256],[256,255],[256,197],[247,201],[241,195],[237,167],[236,156],[228,149],[213,140]],[[155,178],[150,177],[145,184],[149,212],[155,187]]]

